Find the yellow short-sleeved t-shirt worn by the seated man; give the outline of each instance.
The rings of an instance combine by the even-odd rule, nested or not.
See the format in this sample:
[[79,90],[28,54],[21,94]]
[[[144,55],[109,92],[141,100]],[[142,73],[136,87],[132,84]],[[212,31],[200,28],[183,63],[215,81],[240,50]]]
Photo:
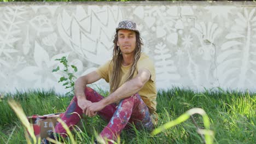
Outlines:
[[[119,83],[120,87],[125,83],[125,80],[127,79],[129,75],[129,71],[131,68],[131,65],[121,65],[121,81]],[[143,88],[138,92],[138,94],[141,96],[144,103],[148,106],[149,112],[152,117],[152,121],[154,124],[158,121],[158,114],[156,113],[156,86],[155,86],[155,67],[153,61],[149,59],[149,57],[145,53],[141,53],[141,57],[138,60],[137,67],[135,70],[135,73],[133,75],[133,78],[137,76],[138,70],[145,68],[150,71],[150,79],[145,83]],[[108,61],[106,64],[101,65],[96,72],[99,74],[106,82],[109,82],[111,84],[111,72],[113,69],[113,63],[111,61]],[[112,87],[110,87],[110,93],[112,93]]]

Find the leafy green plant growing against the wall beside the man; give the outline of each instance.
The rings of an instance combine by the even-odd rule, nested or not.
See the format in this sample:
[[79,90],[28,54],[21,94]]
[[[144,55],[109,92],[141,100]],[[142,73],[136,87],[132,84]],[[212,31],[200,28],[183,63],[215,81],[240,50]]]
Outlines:
[[[55,61],[60,61],[61,64],[64,66],[64,70],[60,70],[59,65],[57,66],[56,69],[53,69],[53,73],[57,71],[61,71],[64,76],[60,77],[60,82],[65,82],[63,83],[62,86],[65,86],[66,89],[71,88],[71,91],[67,92],[66,95],[70,93],[74,93],[74,80],[77,79],[77,77],[74,76],[74,73],[77,72],[77,67],[75,65],[68,65],[67,57],[63,56],[61,58],[55,59]],[[72,68],[73,71],[69,71],[68,69]],[[73,72],[73,73],[72,73]]]

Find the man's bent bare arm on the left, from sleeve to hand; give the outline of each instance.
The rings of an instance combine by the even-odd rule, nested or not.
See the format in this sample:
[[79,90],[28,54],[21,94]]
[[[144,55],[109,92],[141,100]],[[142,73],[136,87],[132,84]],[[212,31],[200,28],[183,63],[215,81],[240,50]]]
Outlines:
[[86,85],[90,83],[94,83],[98,80],[101,79],[101,76],[96,73],[96,71],[92,71],[91,73],[80,76],[76,81],[74,85],[74,94],[77,97],[78,101],[78,106],[85,112],[86,107],[88,104],[91,103],[91,101],[86,100],[86,95],[85,95],[85,87]]

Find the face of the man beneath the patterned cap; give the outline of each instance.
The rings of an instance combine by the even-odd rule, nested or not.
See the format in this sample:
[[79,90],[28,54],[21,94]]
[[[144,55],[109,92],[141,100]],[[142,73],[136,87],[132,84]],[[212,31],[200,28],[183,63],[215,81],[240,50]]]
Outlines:
[[118,31],[118,46],[123,54],[133,53],[136,47],[136,32],[120,29]]

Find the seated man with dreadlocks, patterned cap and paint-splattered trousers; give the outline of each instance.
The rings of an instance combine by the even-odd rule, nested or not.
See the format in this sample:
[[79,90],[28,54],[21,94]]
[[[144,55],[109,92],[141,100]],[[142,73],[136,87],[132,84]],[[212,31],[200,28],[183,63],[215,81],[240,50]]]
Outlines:
[[[98,114],[109,122],[100,134],[108,140],[116,140],[121,130],[129,127],[127,123],[152,130],[158,120],[155,68],[149,57],[141,52],[142,40],[136,23],[121,21],[113,43],[112,60],[77,79],[75,96],[62,117],[70,127],[79,122],[78,115],[84,113],[92,117]],[[100,79],[110,84],[110,94],[106,98],[86,87]],[[75,113],[69,114],[72,112]],[[66,133],[61,124],[56,125],[55,131]]]

